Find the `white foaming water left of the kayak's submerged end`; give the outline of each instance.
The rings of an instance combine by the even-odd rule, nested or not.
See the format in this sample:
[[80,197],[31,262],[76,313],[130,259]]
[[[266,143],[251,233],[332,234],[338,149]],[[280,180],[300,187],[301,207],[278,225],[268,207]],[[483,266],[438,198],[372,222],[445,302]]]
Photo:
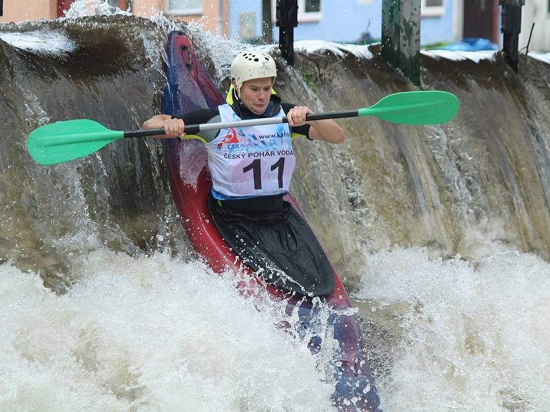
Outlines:
[[333,410],[320,357],[274,328],[283,306],[167,255],[105,249],[73,270],[58,296],[0,266],[0,410]]

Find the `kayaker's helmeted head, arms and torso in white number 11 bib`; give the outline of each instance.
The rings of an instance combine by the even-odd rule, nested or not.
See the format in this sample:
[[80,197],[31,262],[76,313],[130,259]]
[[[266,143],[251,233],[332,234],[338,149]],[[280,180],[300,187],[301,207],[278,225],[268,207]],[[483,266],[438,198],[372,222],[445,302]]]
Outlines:
[[[157,137],[203,141],[208,150],[212,196],[217,200],[285,194],[295,164],[291,134],[340,143],[344,140],[344,131],[331,119],[305,122],[307,113],[312,113],[307,106],[281,103],[281,99],[272,93],[277,69],[269,54],[238,54],[232,62],[230,74],[232,90],[228,101],[231,103],[214,109],[190,111],[179,118],[156,115],[148,119],[143,128],[164,128],[166,135]],[[184,133],[186,124],[284,115],[288,124],[214,130],[194,136]]]

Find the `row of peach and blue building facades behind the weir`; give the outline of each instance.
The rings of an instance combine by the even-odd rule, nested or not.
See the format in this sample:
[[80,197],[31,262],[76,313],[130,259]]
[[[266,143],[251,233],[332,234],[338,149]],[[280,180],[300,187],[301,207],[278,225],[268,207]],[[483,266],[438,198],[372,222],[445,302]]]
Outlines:
[[[56,19],[74,0],[3,0],[0,23]],[[101,0],[87,1],[92,9]],[[162,12],[170,19],[201,21],[205,30],[241,41],[261,38],[262,0],[107,0],[121,10],[148,17]],[[407,0],[409,1],[409,0]],[[429,45],[461,38],[500,42],[498,0],[410,0],[421,3],[420,43]],[[550,0],[528,0],[522,8],[520,48],[550,51]],[[271,0],[273,40],[276,0]],[[382,0],[298,0],[295,40],[375,41],[382,32]]]

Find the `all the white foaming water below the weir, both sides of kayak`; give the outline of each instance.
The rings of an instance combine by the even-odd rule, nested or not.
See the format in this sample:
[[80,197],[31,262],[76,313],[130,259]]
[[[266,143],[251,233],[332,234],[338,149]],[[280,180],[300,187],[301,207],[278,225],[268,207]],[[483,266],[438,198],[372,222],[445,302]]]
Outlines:
[[[59,296],[0,266],[1,410],[332,410],[330,356],[274,328],[293,322],[283,305],[166,254],[72,267]],[[549,290],[550,265],[525,253],[367,255],[353,299],[384,411],[544,411]]]

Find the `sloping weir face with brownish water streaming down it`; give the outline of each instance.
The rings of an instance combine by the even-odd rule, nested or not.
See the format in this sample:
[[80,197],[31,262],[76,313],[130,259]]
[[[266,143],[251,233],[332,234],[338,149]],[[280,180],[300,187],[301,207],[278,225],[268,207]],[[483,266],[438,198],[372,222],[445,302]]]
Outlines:
[[[28,133],[47,122],[88,118],[131,130],[158,113],[162,49],[172,24],[98,16],[0,30],[10,41],[0,41],[2,261],[41,268],[56,279],[66,272],[69,253],[97,244],[126,253],[184,253],[157,142],[113,144],[48,168],[25,151]],[[233,46],[189,30],[224,89]],[[50,36],[50,49],[29,41],[36,32]],[[338,47],[299,49],[294,68],[274,48],[281,98],[328,111],[415,90],[379,48],[338,54]],[[549,65],[524,56],[516,75],[498,54],[478,62],[426,55],[421,87],[459,97],[452,122],[342,119],[344,144],[296,141],[292,193],[338,269],[351,276],[360,250],[394,245],[472,258],[504,247],[550,258],[548,76]]]

